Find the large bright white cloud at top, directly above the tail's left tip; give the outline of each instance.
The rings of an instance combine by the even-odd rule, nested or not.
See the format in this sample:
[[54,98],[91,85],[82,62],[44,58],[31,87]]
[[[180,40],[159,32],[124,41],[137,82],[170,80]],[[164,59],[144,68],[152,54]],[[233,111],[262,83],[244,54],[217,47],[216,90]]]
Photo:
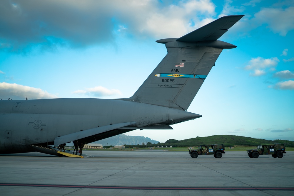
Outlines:
[[[202,21],[197,17],[201,14],[206,16]],[[161,10],[149,10],[146,18],[137,21],[136,26],[141,33],[157,38],[180,37],[213,21],[211,16],[214,14],[215,5],[211,1],[180,1],[178,5],[170,5]]]

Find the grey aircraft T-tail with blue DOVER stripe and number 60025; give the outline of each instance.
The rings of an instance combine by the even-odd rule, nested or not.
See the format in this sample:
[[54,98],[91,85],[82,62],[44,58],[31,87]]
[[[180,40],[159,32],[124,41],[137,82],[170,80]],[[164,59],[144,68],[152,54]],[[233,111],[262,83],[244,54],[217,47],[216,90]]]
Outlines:
[[222,50],[236,48],[217,39],[243,16],[224,16],[181,38],[157,40],[166,45],[167,55],[123,100],[187,110]]

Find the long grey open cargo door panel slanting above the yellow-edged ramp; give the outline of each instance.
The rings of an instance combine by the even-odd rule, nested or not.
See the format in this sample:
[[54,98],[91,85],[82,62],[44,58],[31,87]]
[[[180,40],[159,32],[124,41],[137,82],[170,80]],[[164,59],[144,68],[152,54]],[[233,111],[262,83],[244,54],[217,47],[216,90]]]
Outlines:
[[68,143],[71,141],[75,141],[81,138],[85,138],[85,137],[89,137],[89,136],[93,136],[96,134],[101,134],[105,131],[110,131],[113,129],[118,129],[118,128],[122,128],[124,126],[129,126],[132,124],[136,124],[136,122],[125,122],[125,123],[118,123],[118,124],[111,124],[111,125],[107,125],[107,126],[101,126],[101,127],[96,127],[93,129],[88,129],[88,130],[83,130],[83,131],[79,131],[76,133],[72,133],[72,134],[68,134],[68,135],[64,135],[64,136],[60,136],[54,139],[54,146],[58,146],[60,144],[63,143]]

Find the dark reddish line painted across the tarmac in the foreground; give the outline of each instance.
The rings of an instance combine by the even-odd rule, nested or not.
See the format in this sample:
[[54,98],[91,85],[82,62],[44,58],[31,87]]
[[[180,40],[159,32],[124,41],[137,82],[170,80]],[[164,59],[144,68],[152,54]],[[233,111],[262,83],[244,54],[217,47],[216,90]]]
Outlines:
[[83,185],[44,185],[44,184],[18,184],[0,183],[0,186],[22,187],[52,187],[52,188],[94,188],[94,189],[129,189],[129,190],[290,190],[293,188],[281,187],[126,187],[126,186],[83,186]]

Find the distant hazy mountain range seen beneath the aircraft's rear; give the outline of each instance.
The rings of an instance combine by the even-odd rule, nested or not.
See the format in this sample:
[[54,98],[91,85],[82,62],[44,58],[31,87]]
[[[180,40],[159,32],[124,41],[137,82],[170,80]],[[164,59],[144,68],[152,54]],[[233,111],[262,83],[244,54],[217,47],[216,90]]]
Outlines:
[[146,138],[143,136],[126,136],[124,134],[120,134],[117,136],[113,136],[110,138],[102,139],[93,143],[100,143],[102,146],[116,146],[116,145],[137,145],[137,144],[146,144],[147,142],[151,142],[152,144],[159,143],[159,141]]

